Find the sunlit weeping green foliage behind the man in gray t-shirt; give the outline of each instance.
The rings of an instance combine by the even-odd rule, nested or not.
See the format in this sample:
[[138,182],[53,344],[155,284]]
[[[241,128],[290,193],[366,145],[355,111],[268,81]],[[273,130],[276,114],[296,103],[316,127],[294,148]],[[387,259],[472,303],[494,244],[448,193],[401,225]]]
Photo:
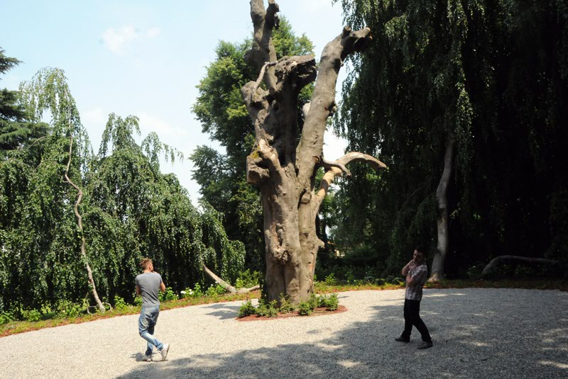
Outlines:
[[111,113],[99,154],[93,155],[59,69],[38,72],[21,85],[20,98],[30,120],[50,118],[50,125],[44,137],[0,162],[2,310],[76,303],[90,292],[72,208],[77,191],[62,180],[71,135],[69,176],[83,188],[79,212],[101,298],[132,302],[144,256],[175,293],[204,283],[203,264],[236,280],[244,268],[244,246],[227,238],[222,213],[207,203],[195,208],[178,179],[159,171],[156,157],[179,159],[177,150],[156,135],[137,145],[138,118]]

